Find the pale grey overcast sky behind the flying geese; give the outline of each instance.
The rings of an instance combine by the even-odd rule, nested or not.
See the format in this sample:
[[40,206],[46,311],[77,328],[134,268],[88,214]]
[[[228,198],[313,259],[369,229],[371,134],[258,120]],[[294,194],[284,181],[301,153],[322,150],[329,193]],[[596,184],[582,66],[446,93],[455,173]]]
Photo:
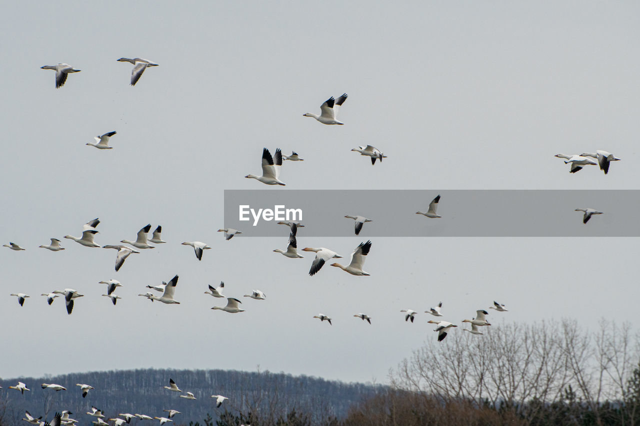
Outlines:
[[[284,227],[278,238],[216,233],[223,189],[429,189],[443,194],[443,221],[455,215],[447,189],[637,189],[637,2],[67,1],[10,10],[0,239],[27,250],[0,251],[0,377],[260,365],[384,383],[436,338],[422,312],[439,301],[458,324],[494,299],[505,303],[510,312],[492,312],[492,327],[637,317],[632,238],[378,237],[371,276],[326,266],[309,277],[311,253],[272,252],[287,244]],[[131,87],[123,56],[159,67]],[[82,71],[56,90],[54,72],[40,67],[61,62]],[[302,116],[343,92],[346,125]],[[84,145],[111,130],[112,150]],[[350,151],[367,144],[388,158],[371,166]],[[285,162],[286,187],[244,178],[260,173],[264,146],[305,159]],[[570,175],[554,157],[595,150],[623,161],[606,176],[593,166]],[[397,226],[429,220],[415,215],[429,202],[419,201],[398,212]],[[540,215],[550,220],[544,205]],[[133,240],[147,223],[163,226],[167,244],[115,272],[115,251],[62,238],[94,217],[99,244]],[[348,258],[367,226],[344,238],[307,239],[302,228],[298,246]],[[38,248],[51,237],[65,251]],[[213,248],[202,262],[180,245],[194,240]],[[136,296],[175,274],[180,305]],[[110,278],[124,285],[117,306],[100,297],[98,281]],[[227,296],[258,288],[268,299],[240,297],[243,313],[213,311],[224,299],[204,292],[221,280]],[[86,295],[72,315],[60,298],[47,306],[39,296],[65,287]],[[14,292],[31,299],[20,308]],[[399,312],[407,308],[420,312],[413,324]],[[333,326],[312,318],[319,312]]]

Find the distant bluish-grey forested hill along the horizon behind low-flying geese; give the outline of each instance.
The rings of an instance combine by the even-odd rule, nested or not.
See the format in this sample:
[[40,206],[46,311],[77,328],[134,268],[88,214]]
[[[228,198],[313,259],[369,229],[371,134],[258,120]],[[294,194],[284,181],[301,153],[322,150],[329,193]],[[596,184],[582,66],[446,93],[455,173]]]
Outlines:
[[[182,393],[163,388],[173,379]],[[20,395],[8,386],[24,382],[31,391]],[[43,390],[42,383],[61,384],[66,391]],[[86,398],[76,383],[95,388]],[[348,407],[363,398],[371,397],[381,386],[360,383],[326,381],[316,377],[270,372],[239,372],[225,370],[123,370],[65,374],[53,377],[18,377],[0,381],[0,419],[2,426],[21,426],[24,411],[51,419],[56,411],[67,409],[74,413],[78,426],[91,426],[92,416],[85,414],[92,406],[102,409],[107,418],[119,413],[166,416],[163,409],[176,409],[182,414],[173,418],[174,425],[188,425],[190,421],[202,425],[207,414],[214,420],[225,407],[228,410],[257,413],[287,413],[291,410],[313,413],[318,418],[346,415]],[[197,400],[180,398],[191,392]],[[216,409],[211,395],[224,395],[229,400]],[[106,420],[106,419],[105,419]],[[131,425],[154,426],[150,421],[133,420]],[[169,423],[171,424],[171,423]]]

